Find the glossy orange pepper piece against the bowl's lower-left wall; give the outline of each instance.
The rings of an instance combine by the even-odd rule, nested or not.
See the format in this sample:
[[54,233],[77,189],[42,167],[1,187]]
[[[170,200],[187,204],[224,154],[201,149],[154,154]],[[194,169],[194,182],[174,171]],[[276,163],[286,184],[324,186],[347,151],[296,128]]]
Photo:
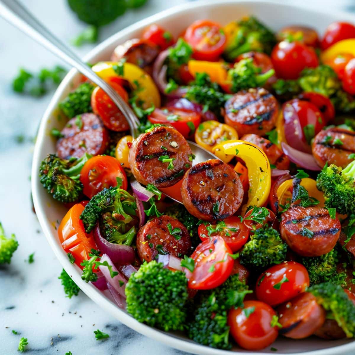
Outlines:
[[83,268],[80,263],[89,260],[91,249],[97,249],[94,237],[86,233],[82,220],[79,218],[84,211],[81,203],[75,204],[61,220],[58,227],[58,237],[65,252],[70,252],[78,267]]

